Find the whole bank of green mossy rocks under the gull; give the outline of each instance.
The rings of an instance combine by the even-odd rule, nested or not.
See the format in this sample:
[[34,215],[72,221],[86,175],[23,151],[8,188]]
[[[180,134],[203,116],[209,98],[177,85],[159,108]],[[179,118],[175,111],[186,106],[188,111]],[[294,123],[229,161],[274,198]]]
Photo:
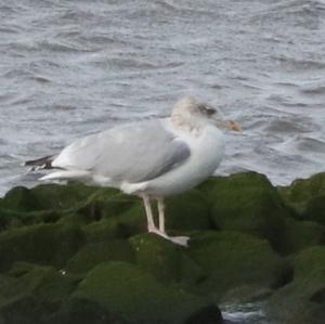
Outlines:
[[271,323],[325,319],[325,173],[274,187],[245,172],[167,202],[183,248],[146,232],[140,199],[42,184],[0,199],[0,323],[218,324],[260,302]]

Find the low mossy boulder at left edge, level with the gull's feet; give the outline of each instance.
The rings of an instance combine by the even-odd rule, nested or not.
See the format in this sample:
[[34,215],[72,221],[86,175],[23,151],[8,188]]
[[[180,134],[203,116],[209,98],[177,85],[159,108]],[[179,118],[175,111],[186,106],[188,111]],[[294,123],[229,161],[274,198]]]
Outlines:
[[0,234],[0,271],[15,261],[61,269],[84,242],[79,226],[38,224],[9,230]]

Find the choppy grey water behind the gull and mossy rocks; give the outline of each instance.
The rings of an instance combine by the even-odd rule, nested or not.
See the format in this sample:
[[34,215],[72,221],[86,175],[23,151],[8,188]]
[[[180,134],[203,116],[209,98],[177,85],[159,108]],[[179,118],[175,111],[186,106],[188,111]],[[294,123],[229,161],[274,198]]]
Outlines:
[[325,169],[325,1],[0,0],[0,195],[21,161],[183,94],[224,107],[218,170],[276,184]]

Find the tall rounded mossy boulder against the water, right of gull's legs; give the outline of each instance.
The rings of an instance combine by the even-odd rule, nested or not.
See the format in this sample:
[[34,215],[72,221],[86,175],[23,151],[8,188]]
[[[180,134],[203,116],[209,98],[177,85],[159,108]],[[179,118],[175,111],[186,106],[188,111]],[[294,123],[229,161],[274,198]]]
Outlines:
[[282,249],[285,218],[289,212],[265,176],[245,172],[218,177],[200,189],[211,204],[216,228],[263,237],[275,249]]

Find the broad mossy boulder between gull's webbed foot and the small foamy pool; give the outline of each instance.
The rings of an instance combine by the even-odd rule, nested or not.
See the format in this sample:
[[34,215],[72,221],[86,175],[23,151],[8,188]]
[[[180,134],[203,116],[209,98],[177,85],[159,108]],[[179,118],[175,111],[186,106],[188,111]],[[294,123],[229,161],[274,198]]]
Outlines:
[[209,274],[202,291],[217,299],[240,285],[278,287],[289,271],[266,239],[237,232],[193,234],[187,254]]

